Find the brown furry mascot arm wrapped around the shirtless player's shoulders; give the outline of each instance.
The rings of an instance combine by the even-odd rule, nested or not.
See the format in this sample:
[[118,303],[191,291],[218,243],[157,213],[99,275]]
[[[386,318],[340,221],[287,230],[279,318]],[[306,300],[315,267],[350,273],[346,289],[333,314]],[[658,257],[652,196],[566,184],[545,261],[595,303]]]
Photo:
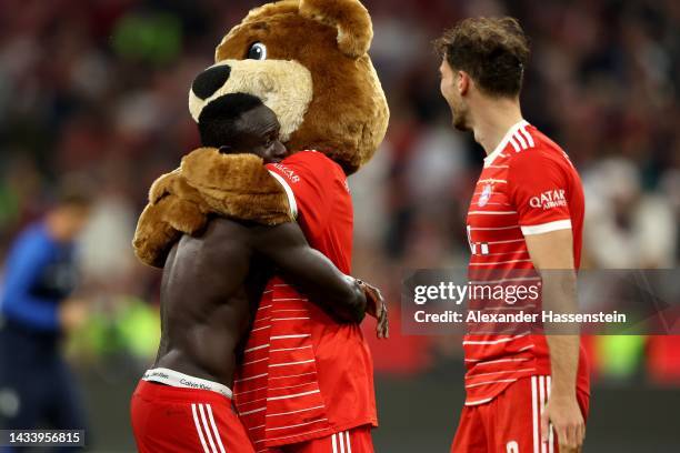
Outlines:
[[132,241],[137,258],[162,268],[174,242],[182,233],[199,233],[209,214],[268,225],[292,220],[286,191],[262,159],[199,148],[151,185]]

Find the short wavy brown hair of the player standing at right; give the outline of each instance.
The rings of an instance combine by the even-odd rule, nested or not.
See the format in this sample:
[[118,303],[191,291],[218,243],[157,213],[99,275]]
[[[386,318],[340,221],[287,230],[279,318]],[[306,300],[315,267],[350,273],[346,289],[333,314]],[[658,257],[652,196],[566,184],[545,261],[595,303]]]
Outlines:
[[529,61],[529,39],[514,18],[469,18],[444,31],[434,48],[488,94],[517,97]]

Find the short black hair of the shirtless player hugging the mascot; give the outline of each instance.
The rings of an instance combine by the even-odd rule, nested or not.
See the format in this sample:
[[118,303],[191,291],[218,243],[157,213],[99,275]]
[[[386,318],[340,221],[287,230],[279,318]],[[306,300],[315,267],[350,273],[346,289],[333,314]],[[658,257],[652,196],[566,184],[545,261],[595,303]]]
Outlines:
[[199,133],[203,147],[220,148],[238,133],[236,127],[239,118],[263,105],[252,94],[230,93],[211,101],[199,115]]

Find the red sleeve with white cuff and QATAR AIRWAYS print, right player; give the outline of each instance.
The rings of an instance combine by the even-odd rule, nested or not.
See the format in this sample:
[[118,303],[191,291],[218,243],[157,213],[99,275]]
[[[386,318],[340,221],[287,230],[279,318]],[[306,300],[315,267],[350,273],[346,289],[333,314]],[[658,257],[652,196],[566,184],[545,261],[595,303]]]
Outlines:
[[570,173],[564,165],[569,163],[539,150],[520,153],[510,161],[508,194],[524,235],[571,229]]

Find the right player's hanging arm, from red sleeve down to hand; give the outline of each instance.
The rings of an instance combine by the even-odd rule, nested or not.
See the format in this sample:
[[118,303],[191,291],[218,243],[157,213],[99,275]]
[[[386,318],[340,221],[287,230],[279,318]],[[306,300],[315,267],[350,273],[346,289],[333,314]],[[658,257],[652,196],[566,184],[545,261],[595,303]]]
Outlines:
[[[562,158],[560,158],[562,159]],[[542,283],[543,310],[577,311],[576,272],[571,211],[567,200],[580,182],[571,164],[549,153],[519,153],[509,163],[508,189],[533,266]],[[544,204],[544,195],[554,197]],[[544,325],[550,350],[551,391],[541,417],[541,433],[548,439],[549,422],[558,435],[561,453],[578,452],[583,442],[584,421],[577,401],[579,336]]]

